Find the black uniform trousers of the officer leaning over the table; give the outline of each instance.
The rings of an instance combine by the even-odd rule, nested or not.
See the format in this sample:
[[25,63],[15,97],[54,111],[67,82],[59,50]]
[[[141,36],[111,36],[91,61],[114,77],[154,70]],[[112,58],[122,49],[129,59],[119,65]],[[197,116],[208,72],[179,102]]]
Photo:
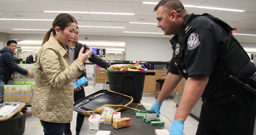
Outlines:
[[196,135],[253,135],[256,96],[237,96],[237,100],[224,104],[217,104],[214,98],[204,99]]

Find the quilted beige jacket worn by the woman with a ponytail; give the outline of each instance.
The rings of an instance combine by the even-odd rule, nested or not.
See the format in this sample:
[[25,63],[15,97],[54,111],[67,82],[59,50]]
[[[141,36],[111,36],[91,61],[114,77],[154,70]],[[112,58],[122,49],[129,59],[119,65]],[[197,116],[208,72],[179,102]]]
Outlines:
[[69,66],[68,50],[51,36],[38,53],[32,115],[43,121],[68,123],[73,115],[73,80],[84,71]]

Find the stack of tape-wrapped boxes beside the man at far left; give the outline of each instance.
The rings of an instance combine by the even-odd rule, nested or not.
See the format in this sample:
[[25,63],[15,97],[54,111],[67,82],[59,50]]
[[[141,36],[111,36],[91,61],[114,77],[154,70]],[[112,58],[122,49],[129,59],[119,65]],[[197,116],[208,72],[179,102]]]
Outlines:
[[[35,64],[18,64],[19,67],[36,73]],[[13,85],[4,86],[4,102],[24,102],[26,106],[32,104],[34,84],[36,78],[15,72],[13,75]]]

